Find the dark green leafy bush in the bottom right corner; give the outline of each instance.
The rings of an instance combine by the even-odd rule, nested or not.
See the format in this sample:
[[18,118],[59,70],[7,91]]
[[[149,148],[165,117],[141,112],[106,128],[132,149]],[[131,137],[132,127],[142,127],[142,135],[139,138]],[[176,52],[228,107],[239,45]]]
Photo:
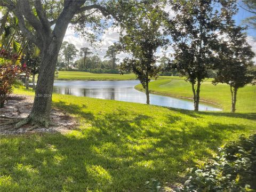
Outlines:
[[256,134],[219,148],[220,156],[189,169],[179,191],[256,191]]

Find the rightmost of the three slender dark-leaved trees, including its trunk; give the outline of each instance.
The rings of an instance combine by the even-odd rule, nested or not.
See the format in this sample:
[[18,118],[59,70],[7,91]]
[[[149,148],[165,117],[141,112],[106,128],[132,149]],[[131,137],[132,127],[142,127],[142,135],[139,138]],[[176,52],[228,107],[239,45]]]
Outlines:
[[218,63],[215,65],[217,76],[213,84],[226,83],[230,86],[231,112],[236,110],[236,96],[239,88],[244,87],[255,79],[256,73],[251,70],[255,53],[247,43],[247,35],[243,33],[244,27],[235,26],[235,21],[230,20],[220,39]]

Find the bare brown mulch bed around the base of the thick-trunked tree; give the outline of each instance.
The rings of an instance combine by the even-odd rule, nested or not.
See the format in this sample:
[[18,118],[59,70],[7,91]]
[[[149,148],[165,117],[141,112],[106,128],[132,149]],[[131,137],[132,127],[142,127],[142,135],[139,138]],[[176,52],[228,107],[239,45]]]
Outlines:
[[[14,125],[4,125],[7,121],[14,119],[25,118],[29,115],[33,106],[34,97],[25,95],[11,95],[10,99],[5,103],[4,108],[0,109],[0,134],[22,134],[33,132],[68,132],[77,127],[77,121],[65,111],[53,108],[51,111],[51,121],[56,126],[48,128],[38,127],[34,130],[29,130],[32,125],[27,124],[15,129]],[[15,120],[14,120],[15,121]]]

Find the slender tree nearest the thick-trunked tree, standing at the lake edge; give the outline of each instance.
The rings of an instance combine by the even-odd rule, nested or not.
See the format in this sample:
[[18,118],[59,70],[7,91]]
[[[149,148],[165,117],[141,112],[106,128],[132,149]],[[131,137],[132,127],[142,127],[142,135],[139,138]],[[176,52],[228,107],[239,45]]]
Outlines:
[[[162,4],[164,5],[164,4]],[[147,5],[134,11],[133,18],[127,19],[121,25],[125,31],[121,35],[119,47],[130,53],[132,58],[125,58],[121,63],[121,71],[132,70],[137,75],[146,90],[147,104],[149,104],[148,83],[156,78],[160,68],[156,65],[156,51],[166,45],[167,38],[161,31],[165,12],[161,4],[148,2]]]

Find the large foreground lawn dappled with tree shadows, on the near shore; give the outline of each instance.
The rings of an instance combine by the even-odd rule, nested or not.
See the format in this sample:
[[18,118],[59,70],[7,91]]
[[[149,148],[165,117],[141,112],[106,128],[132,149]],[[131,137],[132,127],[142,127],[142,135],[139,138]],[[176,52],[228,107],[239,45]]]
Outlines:
[[81,125],[66,134],[2,136],[1,191],[150,191],[151,178],[167,188],[218,146],[256,130],[255,113],[195,113],[59,94],[53,106]]

